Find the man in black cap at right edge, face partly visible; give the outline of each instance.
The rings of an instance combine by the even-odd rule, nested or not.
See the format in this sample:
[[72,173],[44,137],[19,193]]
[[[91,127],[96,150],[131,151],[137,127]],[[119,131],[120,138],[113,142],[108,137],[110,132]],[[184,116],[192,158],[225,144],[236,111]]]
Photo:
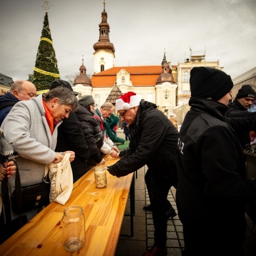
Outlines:
[[[236,95],[236,98],[228,104],[228,111],[226,117],[248,117],[255,116],[256,113],[249,112],[253,100],[256,98],[256,93],[251,85],[243,85]],[[234,127],[233,127],[234,128]],[[238,139],[243,148],[246,148],[247,144],[250,144],[251,139],[249,131],[236,131]]]

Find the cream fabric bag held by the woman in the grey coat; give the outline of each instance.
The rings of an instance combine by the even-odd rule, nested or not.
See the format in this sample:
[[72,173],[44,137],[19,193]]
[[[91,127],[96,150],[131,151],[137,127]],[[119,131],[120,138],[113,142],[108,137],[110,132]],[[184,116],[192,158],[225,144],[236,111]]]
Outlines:
[[[70,154],[65,154],[60,163],[50,163],[45,166],[45,177],[51,182],[50,202],[64,205],[70,198],[73,190],[73,173],[70,165]],[[47,181],[45,181],[47,182]]]

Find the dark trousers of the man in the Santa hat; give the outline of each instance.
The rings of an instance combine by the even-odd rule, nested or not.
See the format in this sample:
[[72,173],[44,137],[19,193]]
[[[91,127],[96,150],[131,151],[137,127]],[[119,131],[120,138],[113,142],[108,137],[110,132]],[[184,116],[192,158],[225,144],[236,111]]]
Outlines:
[[150,204],[152,205],[152,216],[154,223],[154,245],[163,247],[167,241],[166,209],[172,208],[167,200],[171,188],[170,179],[163,179],[158,175],[158,170],[148,169],[145,175],[146,187]]

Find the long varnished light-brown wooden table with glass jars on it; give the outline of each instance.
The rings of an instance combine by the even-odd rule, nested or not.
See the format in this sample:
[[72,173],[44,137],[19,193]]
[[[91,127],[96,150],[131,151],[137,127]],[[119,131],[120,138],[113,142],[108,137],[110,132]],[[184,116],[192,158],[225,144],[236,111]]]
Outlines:
[[[105,158],[106,165],[118,160],[111,156]],[[65,205],[50,203],[0,245],[0,255],[114,255],[133,173],[121,178],[106,173],[106,188],[96,188],[93,169],[88,171],[75,182]],[[70,205],[81,205],[85,214],[85,245],[73,253],[62,245],[60,221],[64,208]]]

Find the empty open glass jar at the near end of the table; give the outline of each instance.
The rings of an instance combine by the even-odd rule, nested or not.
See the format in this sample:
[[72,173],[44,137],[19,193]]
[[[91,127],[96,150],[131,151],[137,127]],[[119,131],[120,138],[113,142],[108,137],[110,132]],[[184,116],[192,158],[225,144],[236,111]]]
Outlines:
[[81,206],[75,205],[64,209],[62,238],[67,251],[77,251],[85,244],[85,215]]

